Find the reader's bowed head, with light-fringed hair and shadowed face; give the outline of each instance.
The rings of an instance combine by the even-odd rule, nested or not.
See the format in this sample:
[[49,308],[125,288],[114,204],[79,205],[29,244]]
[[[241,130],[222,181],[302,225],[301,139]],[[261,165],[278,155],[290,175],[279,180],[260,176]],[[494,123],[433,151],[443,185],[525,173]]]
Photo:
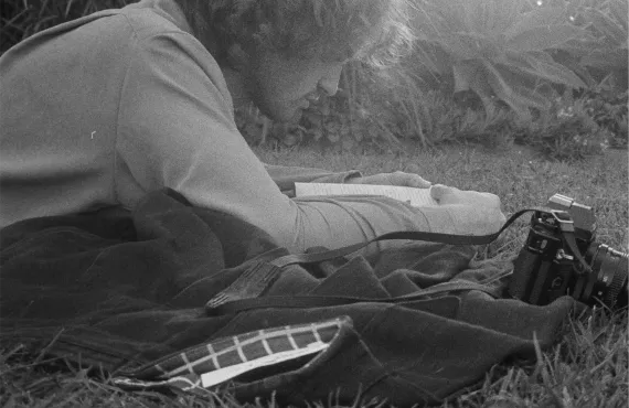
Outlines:
[[394,61],[412,41],[408,0],[177,0],[223,68],[275,120],[337,92],[350,60]]

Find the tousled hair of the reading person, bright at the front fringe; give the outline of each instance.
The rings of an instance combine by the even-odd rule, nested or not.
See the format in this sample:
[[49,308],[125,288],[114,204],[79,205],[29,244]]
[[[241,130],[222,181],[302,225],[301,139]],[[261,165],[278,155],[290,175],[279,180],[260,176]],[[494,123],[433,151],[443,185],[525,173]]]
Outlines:
[[411,50],[409,0],[177,0],[221,60],[228,47],[386,66]]

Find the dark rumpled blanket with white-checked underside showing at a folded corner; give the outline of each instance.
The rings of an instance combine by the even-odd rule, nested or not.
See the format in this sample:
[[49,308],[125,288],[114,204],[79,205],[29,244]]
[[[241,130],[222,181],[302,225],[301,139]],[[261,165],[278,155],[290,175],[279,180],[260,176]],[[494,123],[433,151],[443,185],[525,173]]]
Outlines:
[[171,190],[132,213],[22,221],[0,229],[0,345],[46,346],[127,388],[224,388],[243,400],[275,393],[289,404],[360,395],[404,407],[439,402],[494,364],[533,356],[535,342],[551,346],[575,307],[568,297],[534,307],[461,291],[206,313],[209,303],[269,296],[386,300],[511,268],[430,243],[307,268],[269,264],[287,254],[258,228]]

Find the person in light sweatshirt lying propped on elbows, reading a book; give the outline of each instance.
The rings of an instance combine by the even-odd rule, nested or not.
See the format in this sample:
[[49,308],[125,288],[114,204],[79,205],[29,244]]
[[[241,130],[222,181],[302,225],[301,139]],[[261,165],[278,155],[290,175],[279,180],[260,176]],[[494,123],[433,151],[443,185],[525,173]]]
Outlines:
[[[489,193],[435,185],[436,207],[386,197],[289,198],[234,122],[253,101],[296,120],[344,63],[384,66],[412,41],[404,0],[142,0],[38,33],[0,58],[0,227],[121,205],[171,187],[290,251],[393,230],[487,234]],[[430,183],[395,172],[340,182]]]

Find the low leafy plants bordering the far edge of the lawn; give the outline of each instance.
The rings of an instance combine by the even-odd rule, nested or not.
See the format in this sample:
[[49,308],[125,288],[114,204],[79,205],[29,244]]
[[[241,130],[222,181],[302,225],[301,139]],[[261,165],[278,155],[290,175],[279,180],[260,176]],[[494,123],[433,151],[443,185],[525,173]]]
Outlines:
[[[547,159],[572,161],[629,144],[629,93],[614,99],[604,95],[588,92],[575,98],[566,92],[553,100],[547,110],[527,120],[522,120],[505,107],[478,108],[480,101],[471,92],[457,97],[427,92],[420,101],[412,106],[417,109],[414,112],[409,112],[407,105],[412,99],[392,99],[387,103],[388,109],[382,109],[374,116],[365,109],[350,116],[335,110],[338,108],[330,109],[330,101],[327,101],[321,109],[307,111],[299,125],[273,125],[259,116],[257,124],[250,119],[242,120],[244,127],[241,131],[248,135],[254,143],[260,140],[264,125],[271,124],[270,127],[267,125],[266,135],[276,148],[317,146],[328,151],[404,152],[408,142],[417,144],[419,141],[413,133],[414,124],[405,120],[417,114],[420,117],[416,126],[424,129],[423,135],[429,136],[425,138],[427,144],[418,143],[424,148],[478,143],[492,149],[509,149],[515,143],[533,147]],[[352,117],[354,119],[350,122]],[[374,118],[383,121],[377,122]],[[390,138],[399,137],[399,140],[391,142],[383,139],[383,129],[387,130]],[[358,138],[350,131],[354,131]]]

